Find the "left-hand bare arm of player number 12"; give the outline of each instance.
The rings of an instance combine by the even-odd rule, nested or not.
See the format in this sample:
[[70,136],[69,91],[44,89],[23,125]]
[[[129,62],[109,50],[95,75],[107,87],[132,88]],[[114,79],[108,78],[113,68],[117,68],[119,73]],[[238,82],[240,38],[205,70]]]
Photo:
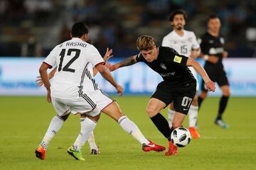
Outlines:
[[47,73],[47,69],[49,69],[49,65],[43,62],[41,64],[41,67],[39,68],[39,73],[41,76],[41,79],[43,81],[43,84],[45,84],[46,89],[47,89],[47,101],[48,103],[51,103],[51,98],[50,98],[50,81]]

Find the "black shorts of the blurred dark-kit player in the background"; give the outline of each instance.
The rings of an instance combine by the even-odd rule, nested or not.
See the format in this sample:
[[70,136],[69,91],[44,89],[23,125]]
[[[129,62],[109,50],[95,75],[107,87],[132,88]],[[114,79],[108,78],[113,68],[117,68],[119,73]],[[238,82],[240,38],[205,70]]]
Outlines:
[[[223,67],[218,68],[218,67],[210,67],[206,65],[204,69],[206,69],[206,72],[210,77],[210,79],[213,82],[216,82],[218,86],[225,86],[225,85],[229,86],[228,77],[226,76],[226,73]],[[207,91],[204,81],[202,81],[201,83],[201,90]]]

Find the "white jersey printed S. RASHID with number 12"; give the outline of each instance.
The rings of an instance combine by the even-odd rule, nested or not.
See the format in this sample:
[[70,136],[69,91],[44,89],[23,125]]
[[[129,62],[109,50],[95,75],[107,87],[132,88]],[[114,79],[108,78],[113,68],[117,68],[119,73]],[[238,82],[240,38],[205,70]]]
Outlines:
[[55,46],[44,62],[57,66],[50,86],[51,96],[74,99],[97,89],[92,67],[104,60],[93,45],[80,38],[72,38]]

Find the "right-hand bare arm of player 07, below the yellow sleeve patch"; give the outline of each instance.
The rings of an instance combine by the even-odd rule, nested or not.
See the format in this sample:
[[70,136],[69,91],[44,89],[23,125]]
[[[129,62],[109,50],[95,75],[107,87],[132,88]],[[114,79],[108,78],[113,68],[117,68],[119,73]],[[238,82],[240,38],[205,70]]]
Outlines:
[[208,74],[206,73],[206,70],[203,69],[199,62],[196,62],[196,60],[188,58],[186,65],[192,66],[196,70],[196,72],[198,72],[198,74],[202,77],[203,81],[205,81],[208,91],[215,91],[215,83],[210,80]]

